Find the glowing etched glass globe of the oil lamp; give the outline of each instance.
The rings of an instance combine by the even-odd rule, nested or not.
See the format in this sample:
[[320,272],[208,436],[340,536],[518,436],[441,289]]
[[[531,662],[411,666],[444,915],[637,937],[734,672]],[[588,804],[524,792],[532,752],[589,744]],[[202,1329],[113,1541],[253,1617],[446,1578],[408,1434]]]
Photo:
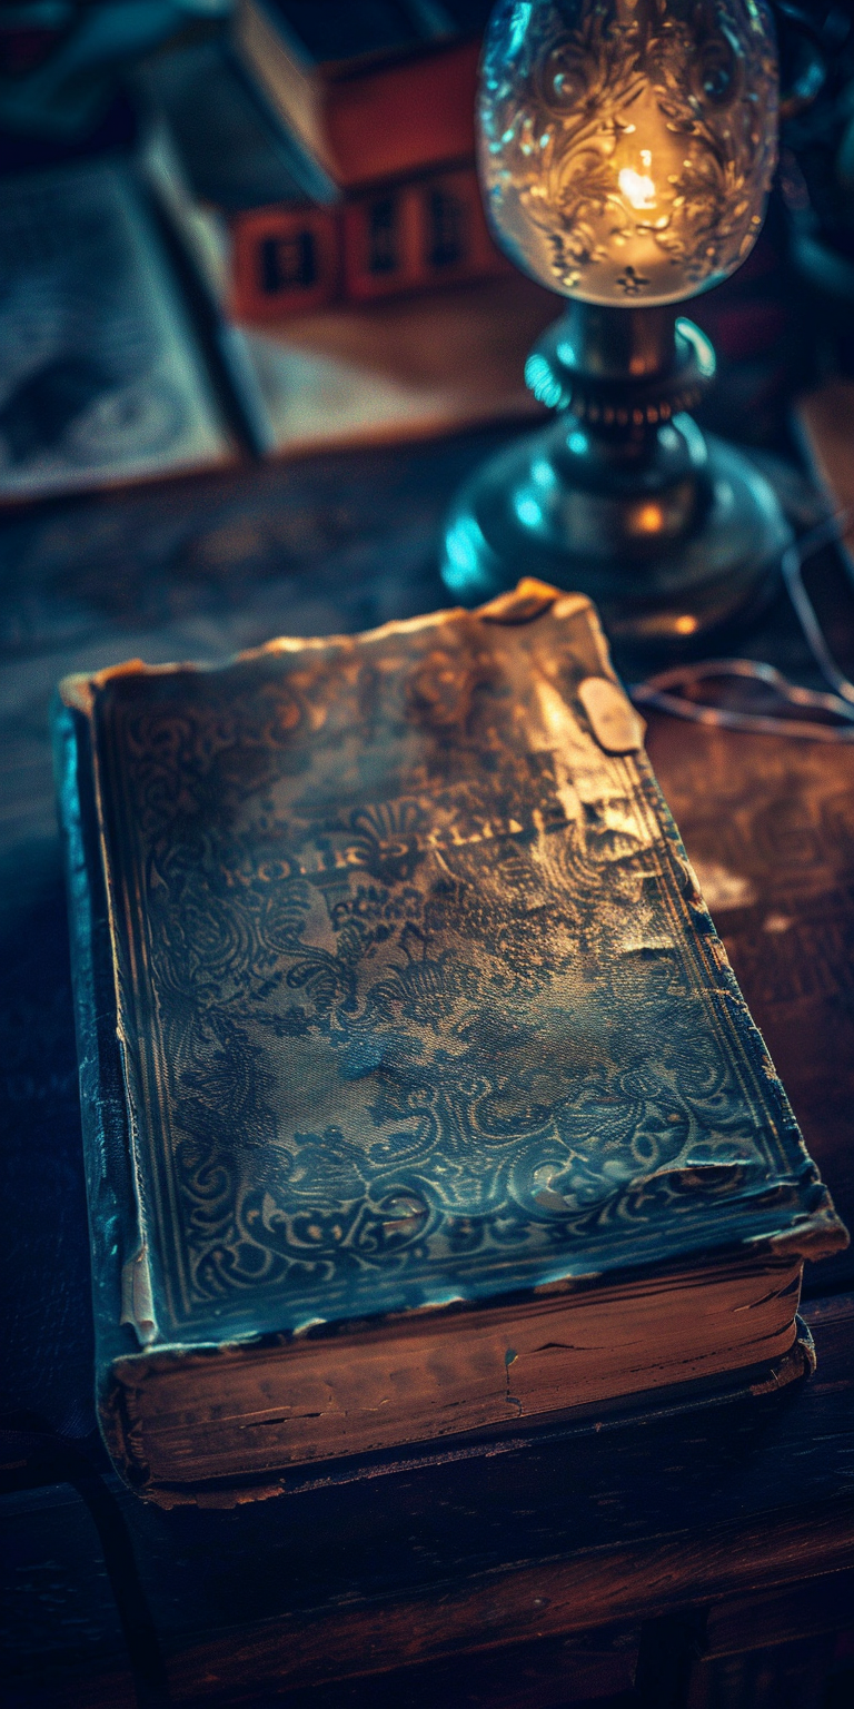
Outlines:
[[753,248],[775,157],[763,0],[499,0],[480,84],[487,208],[552,291],[709,291]]

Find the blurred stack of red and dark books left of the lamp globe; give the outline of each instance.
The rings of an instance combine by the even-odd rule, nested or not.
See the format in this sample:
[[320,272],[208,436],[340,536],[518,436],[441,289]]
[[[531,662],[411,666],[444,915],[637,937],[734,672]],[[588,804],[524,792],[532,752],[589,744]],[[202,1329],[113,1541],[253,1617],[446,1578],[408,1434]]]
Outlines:
[[219,231],[229,311],[277,321],[507,270],[475,171],[487,0],[239,0],[147,94]]

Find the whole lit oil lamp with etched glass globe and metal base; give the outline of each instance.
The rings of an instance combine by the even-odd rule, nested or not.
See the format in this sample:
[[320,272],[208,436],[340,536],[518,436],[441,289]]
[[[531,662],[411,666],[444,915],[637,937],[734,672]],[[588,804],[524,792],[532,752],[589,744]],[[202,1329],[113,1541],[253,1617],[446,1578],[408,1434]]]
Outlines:
[[466,603],[521,573],[579,588],[611,639],[685,646],[757,607],[789,543],[769,482],[690,414],[714,350],[678,314],[750,253],[777,154],[763,0],[499,0],[480,173],[497,241],[569,297],[528,357],[557,412],[453,508]]

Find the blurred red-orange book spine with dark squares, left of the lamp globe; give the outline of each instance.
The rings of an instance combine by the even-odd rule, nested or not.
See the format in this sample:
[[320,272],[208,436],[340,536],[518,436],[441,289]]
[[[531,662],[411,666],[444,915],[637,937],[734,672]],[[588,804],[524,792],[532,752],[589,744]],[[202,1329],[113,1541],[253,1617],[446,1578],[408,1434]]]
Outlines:
[[509,270],[488,234],[477,173],[463,166],[386,185],[342,210],[236,215],[231,311],[280,321],[338,297],[369,302]]

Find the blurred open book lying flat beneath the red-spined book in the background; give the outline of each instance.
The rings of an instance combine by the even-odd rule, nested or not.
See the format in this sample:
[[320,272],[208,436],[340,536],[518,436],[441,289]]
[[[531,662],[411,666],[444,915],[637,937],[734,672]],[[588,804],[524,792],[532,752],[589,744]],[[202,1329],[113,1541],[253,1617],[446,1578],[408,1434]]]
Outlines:
[[[31,241],[3,261],[17,285],[0,308],[0,499],[224,465],[241,415],[275,455],[538,414],[523,367],[553,308],[523,279],[241,326],[176,268],[125,166],[65,167],[14,198],[7,229],[26,222]],[[41,219],[67,229],[94,203],[99,232],[51,250]]]

